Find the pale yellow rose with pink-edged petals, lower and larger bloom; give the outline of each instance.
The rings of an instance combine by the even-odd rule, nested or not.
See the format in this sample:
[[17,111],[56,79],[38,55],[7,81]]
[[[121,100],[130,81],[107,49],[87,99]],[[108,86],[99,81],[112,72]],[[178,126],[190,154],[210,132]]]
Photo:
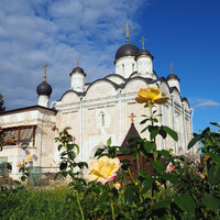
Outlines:
[[108,156],[102,156],[98,161],[90,163],[90,174],[86,178],[89,182],[97,180],[105,185],[107,182],[114,179],[120,167],[121,163],[118,157],[109,158]]

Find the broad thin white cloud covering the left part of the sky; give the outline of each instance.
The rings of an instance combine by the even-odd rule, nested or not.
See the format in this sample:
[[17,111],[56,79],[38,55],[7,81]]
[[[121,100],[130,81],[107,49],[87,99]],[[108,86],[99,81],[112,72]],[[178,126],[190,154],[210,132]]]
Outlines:
[[52,100],[69,89],[78,55],[86,81],[112,74],[114,53],[125,42],[120,30],[127,21],[139,30],[133,18],[148,1],[1,0],[0,92],[7,109],[37,103],[45,62]]

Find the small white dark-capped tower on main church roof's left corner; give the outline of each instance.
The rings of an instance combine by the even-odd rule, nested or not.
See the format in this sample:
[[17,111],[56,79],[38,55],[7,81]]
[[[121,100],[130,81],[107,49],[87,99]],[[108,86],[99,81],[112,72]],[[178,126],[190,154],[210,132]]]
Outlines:
[[69,76],[72,77],[70,88],[77,92],[84,92],[86,74],[84,69],[79,67],[79,58],[77,67],[73,69]]

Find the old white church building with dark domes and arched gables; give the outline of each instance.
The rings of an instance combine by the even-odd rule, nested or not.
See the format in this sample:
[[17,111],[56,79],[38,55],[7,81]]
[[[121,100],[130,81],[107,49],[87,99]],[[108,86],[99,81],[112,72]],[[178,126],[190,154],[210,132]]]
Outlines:
[[[144,48],[130,44],[122,45],[116,53],[116,74],[85,84],[86,73],[79,65],[69,74],[70,89],[61,99],[52,102],[48,108],[52,87],[46,81],[37,86],[38,103],[22,109],[4,111],[0,114],[1,141],[0,158],[11,165],[10,175],[18,177],[16,163],[25,155],[32,155],[32,166],[40,167],[42,173],[56,172],[59,153],[54,142],[56,127],[75,136],[80,146],[79,161],[94,160],[95,152],[111,138],[112,144],[120,146],[131,125],[131,113],[135,116],[134,124],[142,138],[148,139],[148,133],[141,133],[142,114],[150,114],[135,101],[141,88],[158,87],[169,99],[165,105],[156,105],[161,114],[158,124],[168,125],[178,133],[178,141],[169,136],[166,140],[157,138],[158,148],[173,150],[176,155],[196,153],[187,151],[187,144],[193,136],[191,109],[187,98],[180,96],[179,78],[170,72],[165,77],[158,77],[153,70],[152,54]],[[1,162],[0,162],[1,163]]]

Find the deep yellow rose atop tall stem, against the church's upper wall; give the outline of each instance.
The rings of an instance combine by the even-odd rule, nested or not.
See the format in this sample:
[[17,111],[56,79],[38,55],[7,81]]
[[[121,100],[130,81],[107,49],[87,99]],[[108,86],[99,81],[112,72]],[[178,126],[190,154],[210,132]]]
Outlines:
[[146,103],[153,101],[158,105],[163,105],[168,100],[167,96],[162,97],[162,90],[157,87],[150,87],[146,89],[140,89],[135,99],[139,103]]

